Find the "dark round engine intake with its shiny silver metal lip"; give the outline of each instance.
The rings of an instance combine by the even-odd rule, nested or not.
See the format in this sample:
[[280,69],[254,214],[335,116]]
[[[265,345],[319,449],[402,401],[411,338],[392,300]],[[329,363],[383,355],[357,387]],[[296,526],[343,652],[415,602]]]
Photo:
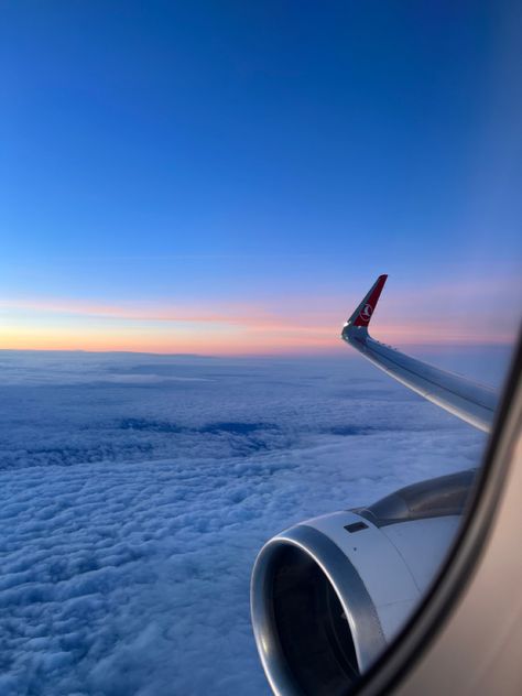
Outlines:
[[385,645],[357,570],[312,526],[293,528],[263,547],[251,599],[258,648],[275,694],[346,694]]

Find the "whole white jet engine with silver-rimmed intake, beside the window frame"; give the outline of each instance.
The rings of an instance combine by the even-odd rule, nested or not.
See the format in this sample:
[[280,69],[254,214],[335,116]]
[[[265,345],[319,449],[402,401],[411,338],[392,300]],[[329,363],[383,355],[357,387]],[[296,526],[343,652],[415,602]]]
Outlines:
[[416,483],[370,508],[300,523],[263,546],[251,610],[275,694],[346,694],[433,580],[472,479],[466,471]]

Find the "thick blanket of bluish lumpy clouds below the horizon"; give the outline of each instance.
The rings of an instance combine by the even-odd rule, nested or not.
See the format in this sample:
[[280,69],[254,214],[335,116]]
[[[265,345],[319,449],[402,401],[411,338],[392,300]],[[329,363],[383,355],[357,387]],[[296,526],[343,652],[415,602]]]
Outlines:
[[249,619],[262,543],[483,447],[357,357],[0,367],[6,696],[268,694]]

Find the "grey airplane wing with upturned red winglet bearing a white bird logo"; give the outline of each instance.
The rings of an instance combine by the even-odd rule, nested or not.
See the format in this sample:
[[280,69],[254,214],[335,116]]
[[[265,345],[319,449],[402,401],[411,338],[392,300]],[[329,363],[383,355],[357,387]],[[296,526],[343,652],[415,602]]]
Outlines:
[[381,344],[368,333],[388,275],[380,275],[342,327],[341,338],[388,374],[481,431],[489,432],[498,394],[459,374],[439,370]]

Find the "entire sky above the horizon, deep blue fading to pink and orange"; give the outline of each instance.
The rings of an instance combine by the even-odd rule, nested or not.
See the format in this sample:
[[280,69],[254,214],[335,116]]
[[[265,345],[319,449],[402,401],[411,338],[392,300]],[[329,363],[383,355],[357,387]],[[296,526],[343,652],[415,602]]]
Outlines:
[[[11,1],[0,347],[511,340],[518,2]],[[377,327],[376,327],[377,328]]]

